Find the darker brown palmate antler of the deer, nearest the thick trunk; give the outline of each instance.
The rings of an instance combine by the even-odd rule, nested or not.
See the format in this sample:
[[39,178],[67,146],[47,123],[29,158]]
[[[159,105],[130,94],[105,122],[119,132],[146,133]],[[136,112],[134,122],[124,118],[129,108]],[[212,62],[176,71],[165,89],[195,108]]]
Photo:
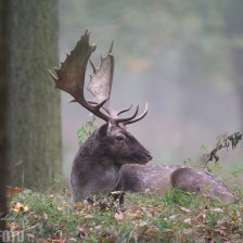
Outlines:
[[[108,98],[100,99],[95,105],[91,105],[85,99],[84,89],[87,63],[90,55],[95,50],[95,44],[90,46],[89,43],[89,35],[90,33],[86,30],[71,54],[68,54],[66,60],[61,63],[61,68],[54,68],[55,74],[50,71],[49,73],[54,79],[56,88],[69,93],[74,98],[73,101],[78,102],[93,115],[108,122],[112,117],[100,111]],[[91,66],[95,73],[95,67],[92,63]]]

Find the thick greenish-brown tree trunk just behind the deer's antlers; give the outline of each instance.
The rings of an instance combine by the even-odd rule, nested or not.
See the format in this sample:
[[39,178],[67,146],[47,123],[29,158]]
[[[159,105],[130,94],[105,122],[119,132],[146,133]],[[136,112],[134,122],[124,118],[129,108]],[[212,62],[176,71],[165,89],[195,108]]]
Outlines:
[[60,93],[48,75],[57,63],[57,0],[9,0],[8,137],[11,182],[44,188],[61,174]]

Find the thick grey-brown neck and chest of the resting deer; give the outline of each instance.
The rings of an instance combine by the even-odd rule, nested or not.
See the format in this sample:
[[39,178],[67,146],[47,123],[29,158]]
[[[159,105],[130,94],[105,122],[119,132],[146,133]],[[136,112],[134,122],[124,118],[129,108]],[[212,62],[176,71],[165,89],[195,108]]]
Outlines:
[[120,168],[122,164],[116,163],[113,157],[97,156],[95,153],[84,156],[78,153],[71,174],[71,184],[75,189],[73,194],[77,195],[74,201],[92,194],[108,194],[119,183]]

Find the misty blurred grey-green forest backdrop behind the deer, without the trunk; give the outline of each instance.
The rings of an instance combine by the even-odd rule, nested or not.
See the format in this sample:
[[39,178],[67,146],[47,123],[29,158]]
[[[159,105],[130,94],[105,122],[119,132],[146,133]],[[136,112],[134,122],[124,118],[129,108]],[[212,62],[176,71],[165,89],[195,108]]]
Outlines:
[[[61,61],[87,28],[97,65],[114,40],[114,106],[149,103],[148,116],[128,129],[155,163],[199,159],[202,146],[243,130],[242,12],[242,0],[60,0]],[[62,93],[66,176],[88,119]],[[242,164],[242,143],[220,158],[231,168]]]

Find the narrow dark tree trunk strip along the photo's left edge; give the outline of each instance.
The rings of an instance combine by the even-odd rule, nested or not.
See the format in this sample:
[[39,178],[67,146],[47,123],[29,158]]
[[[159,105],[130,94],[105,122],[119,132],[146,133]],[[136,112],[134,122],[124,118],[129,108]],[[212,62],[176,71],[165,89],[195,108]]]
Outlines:
[[[0,233],[5,230],[8,214],[7,191],[8,163],[7,163],[7,90],[8,90],[8,48],[7,48],[7,18],[8,0],[0,1]],[[1,235],[0,235],[1,239]]]

